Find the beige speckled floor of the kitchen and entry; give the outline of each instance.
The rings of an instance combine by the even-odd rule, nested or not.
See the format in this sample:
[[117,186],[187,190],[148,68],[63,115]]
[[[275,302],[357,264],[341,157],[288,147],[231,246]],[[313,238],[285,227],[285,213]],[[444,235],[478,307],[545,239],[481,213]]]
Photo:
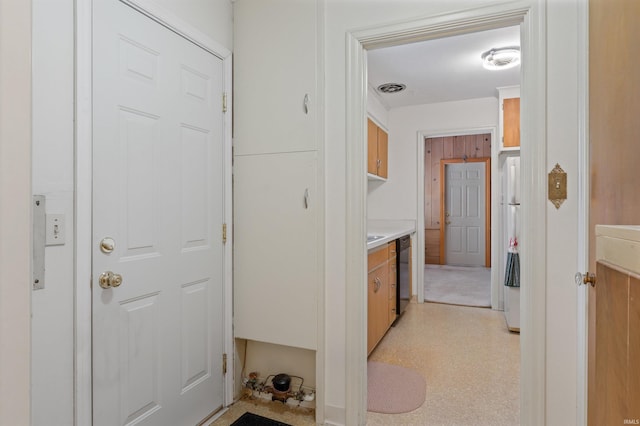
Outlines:
[[[412,303],[370,360],[420,371],[427,396],[410,413],[368,413],[368,425],[519,424],[520,336],[507,330],[502,312]],[[241,400],[212,425],[228,426],[245,411],[295,426],[315,424],[306,410]]]

